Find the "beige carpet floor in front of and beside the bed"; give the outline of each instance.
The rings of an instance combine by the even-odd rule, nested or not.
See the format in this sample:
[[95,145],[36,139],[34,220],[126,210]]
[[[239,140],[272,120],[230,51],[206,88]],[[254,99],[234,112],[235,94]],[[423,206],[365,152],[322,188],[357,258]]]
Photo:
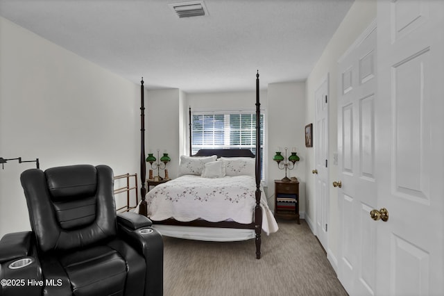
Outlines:
[[164,295],[347,295],[305,220],[254,240],[164,238]]

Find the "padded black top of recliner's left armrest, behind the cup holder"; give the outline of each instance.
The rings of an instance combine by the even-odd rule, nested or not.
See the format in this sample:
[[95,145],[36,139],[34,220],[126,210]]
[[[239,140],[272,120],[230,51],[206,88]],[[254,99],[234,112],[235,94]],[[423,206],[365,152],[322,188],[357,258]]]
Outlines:
[[0,240],[0,262],[29,256],[32,231],[8,233]]

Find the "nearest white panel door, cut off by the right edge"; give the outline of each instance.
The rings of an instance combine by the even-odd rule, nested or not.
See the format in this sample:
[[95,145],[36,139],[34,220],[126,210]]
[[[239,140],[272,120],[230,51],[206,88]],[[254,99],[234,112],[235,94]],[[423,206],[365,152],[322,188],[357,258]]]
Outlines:
[[444,295],[444,1],[377,1],[377,294]]

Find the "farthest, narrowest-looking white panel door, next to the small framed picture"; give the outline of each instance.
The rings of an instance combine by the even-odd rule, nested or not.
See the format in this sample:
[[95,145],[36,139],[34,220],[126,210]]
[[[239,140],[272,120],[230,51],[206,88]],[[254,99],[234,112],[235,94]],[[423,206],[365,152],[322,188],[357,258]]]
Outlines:
[[329,181],[328,181],[328,75],[314,94],[315,124],[314,147],[316,155],[316,236],[328,250],[327,224],[329,219]]

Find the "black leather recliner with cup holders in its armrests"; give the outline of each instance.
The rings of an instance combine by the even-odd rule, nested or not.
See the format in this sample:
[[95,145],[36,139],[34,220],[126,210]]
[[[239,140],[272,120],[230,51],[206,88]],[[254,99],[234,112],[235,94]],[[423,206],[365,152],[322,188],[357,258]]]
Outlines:
[[0,240],[0,295],[162,295],[162,236],[147,217],[116,215],[110,167],[20,179],[32,231]]

